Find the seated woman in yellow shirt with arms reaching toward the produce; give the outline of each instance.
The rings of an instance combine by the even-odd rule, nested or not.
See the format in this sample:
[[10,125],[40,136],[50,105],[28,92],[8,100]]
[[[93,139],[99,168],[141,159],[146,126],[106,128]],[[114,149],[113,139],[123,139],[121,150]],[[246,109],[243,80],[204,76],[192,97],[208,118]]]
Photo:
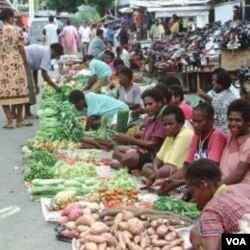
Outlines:
[[156,179],[167,178],[182,168],[193,137],[193,131],[184,127],[185,116],[177,106],[166,107],[162,122],[167,137],[154,163],[143,167],[143,174],[149,178],[148,185],[152,185]]

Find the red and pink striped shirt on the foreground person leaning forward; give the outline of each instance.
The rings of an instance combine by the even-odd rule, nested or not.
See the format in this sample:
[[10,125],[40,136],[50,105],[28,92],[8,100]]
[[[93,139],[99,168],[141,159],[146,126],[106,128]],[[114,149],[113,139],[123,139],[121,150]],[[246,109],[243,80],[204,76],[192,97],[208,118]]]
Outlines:
[[239,232],[238,221],[249,212],[250,200],[233,186],[226,187],[203,208],[199,224],[201,237],[221,237],[222,233]]

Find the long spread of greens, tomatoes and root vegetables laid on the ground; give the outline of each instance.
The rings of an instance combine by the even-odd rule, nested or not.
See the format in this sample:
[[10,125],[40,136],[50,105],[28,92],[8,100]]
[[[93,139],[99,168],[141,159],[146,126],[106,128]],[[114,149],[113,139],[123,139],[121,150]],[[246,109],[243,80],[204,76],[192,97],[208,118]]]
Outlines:
[[198,211],[173,198],[146,199],[137,177],[110,168],[110,119],[85,130],[86,119],[68,102],[77,85],[64,83],[59,93],[45,88],[40,126],[23,157],[31,198],[41,201],[46,221],[58,223],[58,240],[74,239],[75,250],[184,249],[177,229],[190,226]]

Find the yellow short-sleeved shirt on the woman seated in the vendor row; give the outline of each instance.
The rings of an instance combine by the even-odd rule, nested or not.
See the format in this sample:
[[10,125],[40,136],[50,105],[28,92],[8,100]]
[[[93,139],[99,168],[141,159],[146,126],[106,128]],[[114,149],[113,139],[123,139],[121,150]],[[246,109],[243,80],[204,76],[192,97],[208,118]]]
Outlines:
[[166,137],[160,151],[157,153],[157,158],[163,161],[164,164],[169,163],[177,168],[182,168],[193,135],[192,130],[183,127],[175,138]]

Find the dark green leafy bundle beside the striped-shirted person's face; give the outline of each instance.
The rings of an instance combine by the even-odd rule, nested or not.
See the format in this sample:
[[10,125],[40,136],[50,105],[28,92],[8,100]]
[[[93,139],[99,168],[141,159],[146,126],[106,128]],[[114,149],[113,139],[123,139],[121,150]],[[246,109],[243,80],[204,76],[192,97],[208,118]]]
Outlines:
[[154,209],[159,211],[171,211],[190,219],[196,219],[199,211],[194,203],[178,200],[171,196],[161,197],[154,202]]

